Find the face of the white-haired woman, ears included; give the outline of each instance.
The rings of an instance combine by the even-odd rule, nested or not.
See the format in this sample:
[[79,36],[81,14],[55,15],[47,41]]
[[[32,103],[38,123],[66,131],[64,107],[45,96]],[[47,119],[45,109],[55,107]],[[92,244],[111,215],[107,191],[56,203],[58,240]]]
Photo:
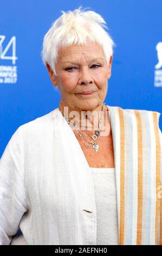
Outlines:
[[[47,68],[53,84],[61,93],[61,106],[76,111],[87,111],[101,106],[107,94],[107,80],[111,77],[111,56],[107,64],[102,47],[87,41],[86,45],[71,45],[59,51],[54,75]],[[81,92],[94,92],[81,95]]]

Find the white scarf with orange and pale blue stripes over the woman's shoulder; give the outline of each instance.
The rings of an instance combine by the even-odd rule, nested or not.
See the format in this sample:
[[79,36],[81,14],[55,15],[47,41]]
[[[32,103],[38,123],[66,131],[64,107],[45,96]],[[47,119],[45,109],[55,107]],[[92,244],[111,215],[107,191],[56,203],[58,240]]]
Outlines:
[[162,245],[160,113],[107,107],[114,145],[119,245]]

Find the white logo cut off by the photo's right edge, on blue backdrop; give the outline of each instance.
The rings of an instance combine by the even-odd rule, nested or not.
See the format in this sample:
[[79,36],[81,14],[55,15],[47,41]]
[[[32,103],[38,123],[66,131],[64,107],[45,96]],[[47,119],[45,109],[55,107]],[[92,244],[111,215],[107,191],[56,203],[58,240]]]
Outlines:
[[162,87],[162,42],[156,45],[158,62],[154,71],[154,86]]

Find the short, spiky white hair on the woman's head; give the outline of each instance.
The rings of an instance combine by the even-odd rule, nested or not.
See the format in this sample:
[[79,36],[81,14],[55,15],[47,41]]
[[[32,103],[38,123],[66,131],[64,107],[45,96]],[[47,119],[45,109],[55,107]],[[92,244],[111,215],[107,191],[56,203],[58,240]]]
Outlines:
[[56,75],[55,65],[57,62],[59,48],[68,47],[73,44],[86,44],[87,39],[97,42],[103,47],[103,53],[107,63],[113,54],[114,41],[106,32],[107,26],[102,16],[95,11],[81,9],[80,6],[74,11],[61,11],[62,15],[52,23],[49,31],[43,39],[42,60],[46,65],[49,63]]

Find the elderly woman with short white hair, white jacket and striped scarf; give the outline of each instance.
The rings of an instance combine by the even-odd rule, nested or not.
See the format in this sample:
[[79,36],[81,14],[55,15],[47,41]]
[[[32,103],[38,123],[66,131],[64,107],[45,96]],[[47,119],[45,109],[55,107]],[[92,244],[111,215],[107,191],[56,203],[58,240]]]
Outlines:
[[104,102],[114,46],[105,24],[94,11],[62,11],[44,36],[61,101],[4,150],[1,245],[162,243],[160,113]]

